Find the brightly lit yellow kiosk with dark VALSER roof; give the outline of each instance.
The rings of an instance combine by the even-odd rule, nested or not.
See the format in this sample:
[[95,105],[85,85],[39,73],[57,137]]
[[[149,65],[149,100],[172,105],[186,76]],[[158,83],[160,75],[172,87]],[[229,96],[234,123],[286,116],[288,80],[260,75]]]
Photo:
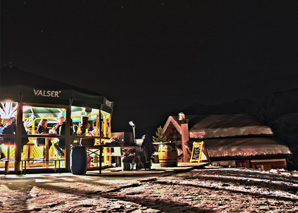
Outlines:
[[[17,120],[15,133],[0,135],[0,147],[5,156],[0,159],[0,173],[70,171],[72,146],[79,146],[82,139],[91,139],[94,145],[100,145],[111,137],[112,101],[103,95],[13,66],[1,69],[0,103],[1,124],[8,125],[10,117]],[[51,130],[61,116],[65,118],[63,134],[51,131],[50,134],[37,134],[41,119],[48,120]],[[90,128],[78,135],[82,117],[87,118]],[[5,140],[8,137],[14,138],[10,144]],[[44,138],[46,143],[40,146],[37,138]],[[65,147],[62,147],[62,156],[58,156],[54,144],[62,140]],[[110,164],[111,160],[105,154],[108,152],[108,148],[103,150],[103,162]],[[90,168],[99,167],[96,158],[90,160]]]

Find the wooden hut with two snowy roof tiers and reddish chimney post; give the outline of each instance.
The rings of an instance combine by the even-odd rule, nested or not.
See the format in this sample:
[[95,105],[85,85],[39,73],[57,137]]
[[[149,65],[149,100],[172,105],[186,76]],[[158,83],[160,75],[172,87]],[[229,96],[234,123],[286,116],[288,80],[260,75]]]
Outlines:
[[169,116],[163,133],[176,142],[184,161],[192,143],[202,140],[210,160],[222,166],[286,168],[291,155],[270,127],[248,114]]

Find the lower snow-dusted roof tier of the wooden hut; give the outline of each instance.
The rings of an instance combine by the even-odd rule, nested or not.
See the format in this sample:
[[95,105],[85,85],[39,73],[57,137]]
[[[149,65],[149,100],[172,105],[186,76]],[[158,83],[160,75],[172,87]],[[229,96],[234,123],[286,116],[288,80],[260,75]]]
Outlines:
[[204,140],[210,158],[268,157],[292,154],[281,141],[272,137],[242,137]]

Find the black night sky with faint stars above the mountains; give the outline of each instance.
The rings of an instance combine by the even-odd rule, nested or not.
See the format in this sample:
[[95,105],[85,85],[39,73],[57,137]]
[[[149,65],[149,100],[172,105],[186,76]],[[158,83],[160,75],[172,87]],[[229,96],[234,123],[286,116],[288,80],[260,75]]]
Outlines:
[[112,127],[298,87],[297,1],[1,0],[1,64],[115,102]]

